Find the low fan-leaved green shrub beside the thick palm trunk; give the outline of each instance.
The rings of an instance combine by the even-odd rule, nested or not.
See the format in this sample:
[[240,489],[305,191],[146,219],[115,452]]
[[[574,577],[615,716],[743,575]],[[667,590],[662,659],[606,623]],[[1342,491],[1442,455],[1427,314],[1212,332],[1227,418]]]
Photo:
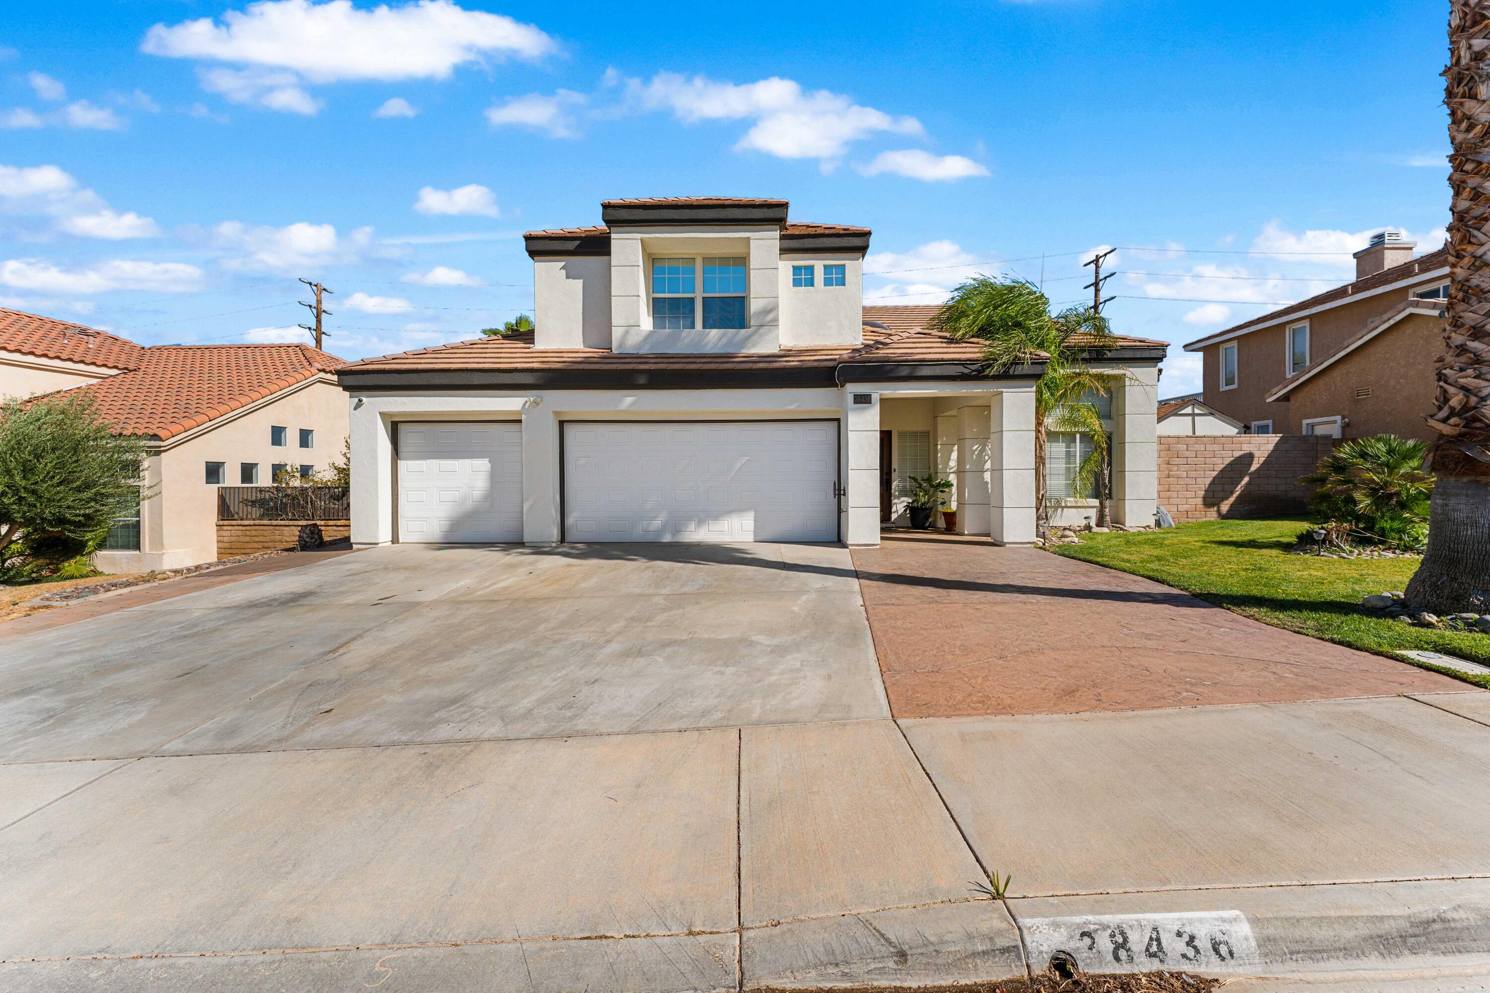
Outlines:
[[1426,456],[1423,441],[1354,438],[1337,445],[1299,482],[1316,487],[1310,505],[1317,521],[1345,524],[1357,537],[1386,545],[1421,548],[1433,493],[1433,476],[1423,470]]

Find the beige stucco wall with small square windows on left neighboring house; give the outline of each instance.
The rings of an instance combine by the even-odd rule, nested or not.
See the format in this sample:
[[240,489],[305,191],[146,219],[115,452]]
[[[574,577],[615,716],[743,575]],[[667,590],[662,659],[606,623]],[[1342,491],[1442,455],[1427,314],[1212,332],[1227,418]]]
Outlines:
[[[289,429],[288,447],[270,444],[271,426]],[[238,485],[244,462],[258,463],[259,485],[271,484],[274,463],[311,464],[320,472],[341,459],[347,395],[331,377],[317,377],[204,427],[167,439],[150,454],[150,493],[140,505],[140,551],[98,552],[98,569],[148,572],[215,561],[218,487],[207,484],[207,463],[226,463],[225,485]],[[316,432],[314,448],[299,447],[301,427]]]

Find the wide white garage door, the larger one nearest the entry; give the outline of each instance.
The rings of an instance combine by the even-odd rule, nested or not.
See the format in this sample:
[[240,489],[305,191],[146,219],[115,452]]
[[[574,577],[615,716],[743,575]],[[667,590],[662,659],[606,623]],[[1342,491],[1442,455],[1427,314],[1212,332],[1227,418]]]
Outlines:
[[568,423],[565,540],[836,542],[837,421]]

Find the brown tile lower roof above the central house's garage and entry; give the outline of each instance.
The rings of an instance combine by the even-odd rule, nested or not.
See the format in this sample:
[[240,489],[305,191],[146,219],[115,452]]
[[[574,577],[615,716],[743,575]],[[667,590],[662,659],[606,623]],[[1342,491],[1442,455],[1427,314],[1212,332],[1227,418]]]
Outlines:
[[[453,341],[417,351],[362,359],[344,366],[364,369],[782,369],[831,368],[867,362],[977,363],[977,341],[954,341],[927,329],[937,307],[866,307],[863,344],[784,345],[776,351],[632,353],[609,348],[536,348],[533,332]],[[1118,347],[1164,345],[1147,338],[1122,338]],[[1043,357],[1043,356],[1033,356]]]

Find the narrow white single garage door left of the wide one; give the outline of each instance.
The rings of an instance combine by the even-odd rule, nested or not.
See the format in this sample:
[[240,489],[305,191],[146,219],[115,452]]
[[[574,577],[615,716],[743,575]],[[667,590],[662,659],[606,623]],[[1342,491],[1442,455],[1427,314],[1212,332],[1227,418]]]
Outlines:
[[398,426],[398,540],[523,540],[523,426]]

